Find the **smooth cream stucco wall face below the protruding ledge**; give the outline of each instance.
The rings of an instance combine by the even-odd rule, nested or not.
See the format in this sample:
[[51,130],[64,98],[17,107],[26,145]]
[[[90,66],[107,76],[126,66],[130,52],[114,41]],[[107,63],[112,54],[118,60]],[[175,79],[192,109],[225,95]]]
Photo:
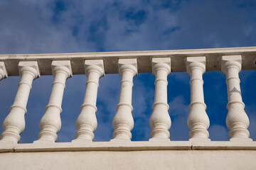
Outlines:
[[0,169],[255,169],[256,151],[1,153]]

